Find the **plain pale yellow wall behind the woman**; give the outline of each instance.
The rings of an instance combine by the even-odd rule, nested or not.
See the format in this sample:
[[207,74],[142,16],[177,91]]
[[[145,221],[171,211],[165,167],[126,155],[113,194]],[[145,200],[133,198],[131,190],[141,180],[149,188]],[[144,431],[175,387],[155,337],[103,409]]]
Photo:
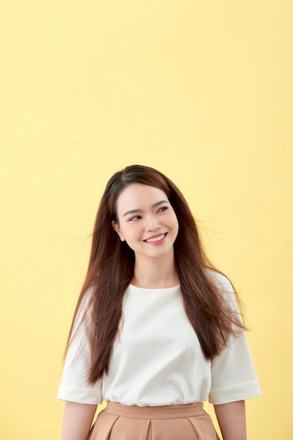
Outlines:
[[[62,352],[97,204],[160,169],[246,304],[263,396],[292,428],[292,1],[2,1],[1,428],[60,438]],[[210,406],[207,406],[212,411]]]

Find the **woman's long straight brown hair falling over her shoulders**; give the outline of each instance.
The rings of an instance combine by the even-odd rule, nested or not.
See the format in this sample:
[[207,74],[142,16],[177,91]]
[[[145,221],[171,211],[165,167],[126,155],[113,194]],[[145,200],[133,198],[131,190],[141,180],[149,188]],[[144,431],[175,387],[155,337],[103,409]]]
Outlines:
[[123,295],[133,276],[135,254],[125,241],[121,242],[111,226],[112,221],[118,223],[118,195],[132,183],[159,188],[175,211],[179,223],[174,243],[175,264],[186,316],[198,336],[205,358],[217,356],[228,343],[229,336],[243,328],[240,316],[231,311],[223,292],[207,271],[207,268],[215,269],[205,255],[196,221],[181,191],[154,168],[126,167],[109,179],[102,195],[95,219],[88,272],[67,342],[68,349],[78,330],[77,323],[87,323],[90,384],[108,372],[111,349],[122,316]]

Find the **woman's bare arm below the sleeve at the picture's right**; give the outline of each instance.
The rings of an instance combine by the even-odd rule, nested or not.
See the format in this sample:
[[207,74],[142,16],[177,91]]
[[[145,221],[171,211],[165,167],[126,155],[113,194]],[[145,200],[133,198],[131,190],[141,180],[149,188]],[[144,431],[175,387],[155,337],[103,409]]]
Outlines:
[[214,405],[223,440],[247,440],[245,401]]

